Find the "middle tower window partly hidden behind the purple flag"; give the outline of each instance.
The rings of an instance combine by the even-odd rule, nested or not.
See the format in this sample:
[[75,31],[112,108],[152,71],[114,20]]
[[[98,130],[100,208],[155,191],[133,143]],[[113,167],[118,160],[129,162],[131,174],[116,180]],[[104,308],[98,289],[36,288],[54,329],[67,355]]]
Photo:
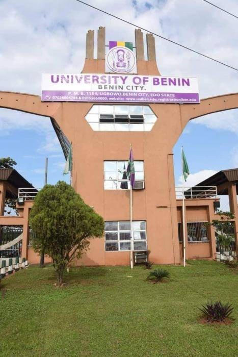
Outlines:
[[[144,162],[134,161],[136,181],[144,181]],[[127,190],[130,183],[126,177],[127,160],[104,161],[104,189]]]

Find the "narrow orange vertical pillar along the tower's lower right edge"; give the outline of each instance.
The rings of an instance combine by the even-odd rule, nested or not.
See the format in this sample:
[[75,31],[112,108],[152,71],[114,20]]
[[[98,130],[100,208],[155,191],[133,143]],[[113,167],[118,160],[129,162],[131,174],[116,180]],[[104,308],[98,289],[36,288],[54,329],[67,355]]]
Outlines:
[[172,244],[173,244],[174,264],[180,264],[173,154],[168,154],[168,177],[169,177],[169,203],[170,203],[169,206],[170,206],[170,217],[171,217],[171,225],[172,225],[172,237],[171,238],[172,238]]

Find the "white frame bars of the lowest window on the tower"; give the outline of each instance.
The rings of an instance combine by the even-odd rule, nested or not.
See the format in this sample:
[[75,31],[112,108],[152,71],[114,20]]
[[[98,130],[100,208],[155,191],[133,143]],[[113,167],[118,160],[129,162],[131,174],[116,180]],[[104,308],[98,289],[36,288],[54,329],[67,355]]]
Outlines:
[[[112,251],[130,251],[130,249],[121,249],[121,243],[130,243],[131,244],[131,241],[132,241],[132,245],[133,245],[133,251],[144,251],[144,250],[147,250],[147,225],[146,225],[146,221],[143,221],[143,220],[137,220],[137,221],[133,221],[132,222],[132,237],[133,239],[130,240],[130,239],[121,239],[120,240],[120,233],[129,233],[130,234],[130,230],[120,230],[120,223],[130,223],[130,221],[105,221],[104,223],[106,222],[117,222],[117,231],[104,231],[104,250],[105,252],[112,252]],[[134,230],[134,222],[144,222],[145,224],[145,229],[144,230]],[[135,232],[144,232],[145,233],[145,239],[134,239],[134,233]],[[105,236],[107,233],[117,233],[117,240],[106,240],[105,239]],[[134,250],[134,243],[137,243],[137,242],[145,242],[146,243],[146,248],[145,249],[136,249]],[[118,245],[118,250],[107,250],[106,249],[106,244],[107,243],[117,243]]]

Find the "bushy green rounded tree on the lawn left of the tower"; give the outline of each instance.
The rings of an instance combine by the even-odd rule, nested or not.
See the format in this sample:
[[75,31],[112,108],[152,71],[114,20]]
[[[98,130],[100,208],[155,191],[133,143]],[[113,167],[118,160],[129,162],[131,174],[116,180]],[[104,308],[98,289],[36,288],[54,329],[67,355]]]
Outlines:
[[102,217],[63,181],[55,186],[45,185],[37,194],[30,212],[30,226],[34,250],[44,251],[52,258],[59,286],[72,259],[80,258],[90,239],[101,237],[104,230]]

